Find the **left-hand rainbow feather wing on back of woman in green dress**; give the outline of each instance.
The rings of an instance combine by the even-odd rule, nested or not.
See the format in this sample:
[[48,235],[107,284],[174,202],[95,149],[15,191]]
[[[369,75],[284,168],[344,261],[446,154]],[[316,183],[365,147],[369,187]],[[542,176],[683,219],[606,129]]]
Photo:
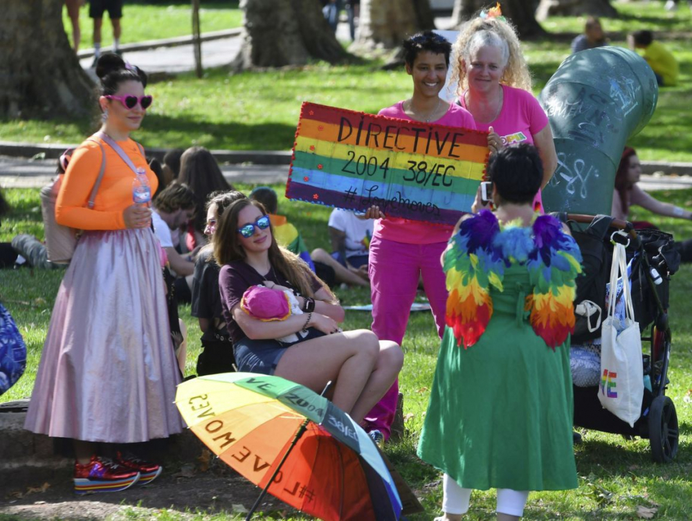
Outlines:
[[444,254],[449,296],[446,323],[457,345],[474,345],[493,316],[490,286],[502,291],[504,262],[493,238],[500,231],[491,212],[480,212],[462,221]]

